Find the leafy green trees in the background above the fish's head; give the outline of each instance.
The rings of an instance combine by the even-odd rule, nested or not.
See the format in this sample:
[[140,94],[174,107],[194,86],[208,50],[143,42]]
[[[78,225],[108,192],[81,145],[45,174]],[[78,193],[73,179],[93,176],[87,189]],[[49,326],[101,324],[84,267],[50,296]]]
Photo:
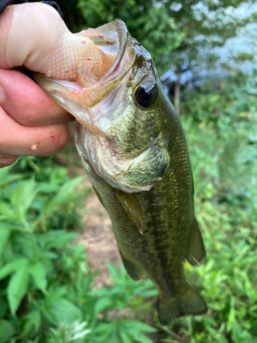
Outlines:
[[[154,58],[159,73],[172,69],[175,107],[179,109],[180,76],[184,69],[209,66],[239,28],[254,23],[252,0],[73,0],[63,1],[64,21],[71,29],[98,27],[122,19],[130,34]],[[74,18],[78,18],[77,22]]]

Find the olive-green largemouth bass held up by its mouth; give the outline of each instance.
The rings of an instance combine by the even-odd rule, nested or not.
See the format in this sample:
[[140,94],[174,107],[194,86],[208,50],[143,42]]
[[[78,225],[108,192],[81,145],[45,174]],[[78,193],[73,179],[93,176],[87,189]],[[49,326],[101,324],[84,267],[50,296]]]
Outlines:
[[127,273],[156,286],[160,321],[206,314],[205,301],[184,276],[184,261],[198,266],[206,251],[180,117],[151,55],[123,21],[79,34],[93,40],[101,68],[78,66],[71,82],[38,73],[34,79],[79,121],[82,165],[110,216]]

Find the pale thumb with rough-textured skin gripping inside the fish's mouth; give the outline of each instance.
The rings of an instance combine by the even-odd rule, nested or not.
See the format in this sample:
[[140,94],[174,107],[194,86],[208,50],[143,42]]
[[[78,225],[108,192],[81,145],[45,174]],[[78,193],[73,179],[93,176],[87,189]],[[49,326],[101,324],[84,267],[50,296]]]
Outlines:
[[93,41],[72,34],[45,3],[10,5],[0,16],[0,68],[24,65],[47,78],[72,80],[82,56],[90,60],[95,53]]

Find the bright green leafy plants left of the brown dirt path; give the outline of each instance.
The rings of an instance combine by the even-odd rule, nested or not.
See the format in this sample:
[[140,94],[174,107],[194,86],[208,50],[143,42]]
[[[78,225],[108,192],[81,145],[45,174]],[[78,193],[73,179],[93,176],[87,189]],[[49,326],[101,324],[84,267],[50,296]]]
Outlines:
[[[0,169],[0,342],[101,342],[114,336],[121,343],[141,337],[151,342],[143,332],[155,329],[133,316],[113,320],[101,315],[127,307],[133,289],[149,295],[153,290],[149,283],[130,289],[133,281],[125,270],[120,277],[110,265],[119,283],[102,293],[92,291],[84,247],[75,244],[79,234],[71,232],[84,176],[69,180],[51,160],[47,163],[54,171],[42,171],[40,159],[34,159],[35,174],[27,161]],[[25,174],[12,172],[24,168]]]

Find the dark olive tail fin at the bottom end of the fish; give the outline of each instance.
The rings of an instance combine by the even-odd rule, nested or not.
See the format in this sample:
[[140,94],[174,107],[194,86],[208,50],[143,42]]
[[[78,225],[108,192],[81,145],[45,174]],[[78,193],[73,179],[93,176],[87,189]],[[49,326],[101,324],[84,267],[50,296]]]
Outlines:
[[206,314],[208,308],[199,293],[191,287],[187,287],[182,294],[176,294],[172,298],[160,298],[157,300],[157,310],[160,321],[171,325],[176,318],[190,315],[199,316]]

